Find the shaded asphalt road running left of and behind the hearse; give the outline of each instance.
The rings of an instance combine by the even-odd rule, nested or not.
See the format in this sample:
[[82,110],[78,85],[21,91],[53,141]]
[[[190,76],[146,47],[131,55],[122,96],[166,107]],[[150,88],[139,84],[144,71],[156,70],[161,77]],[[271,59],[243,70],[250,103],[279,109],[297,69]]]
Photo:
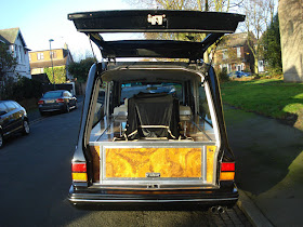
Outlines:
[[73,208],[66,197],[81,110],[31,123],[0,150],[0,226],[251,226],[235,206],[224,214],[156,205]]

